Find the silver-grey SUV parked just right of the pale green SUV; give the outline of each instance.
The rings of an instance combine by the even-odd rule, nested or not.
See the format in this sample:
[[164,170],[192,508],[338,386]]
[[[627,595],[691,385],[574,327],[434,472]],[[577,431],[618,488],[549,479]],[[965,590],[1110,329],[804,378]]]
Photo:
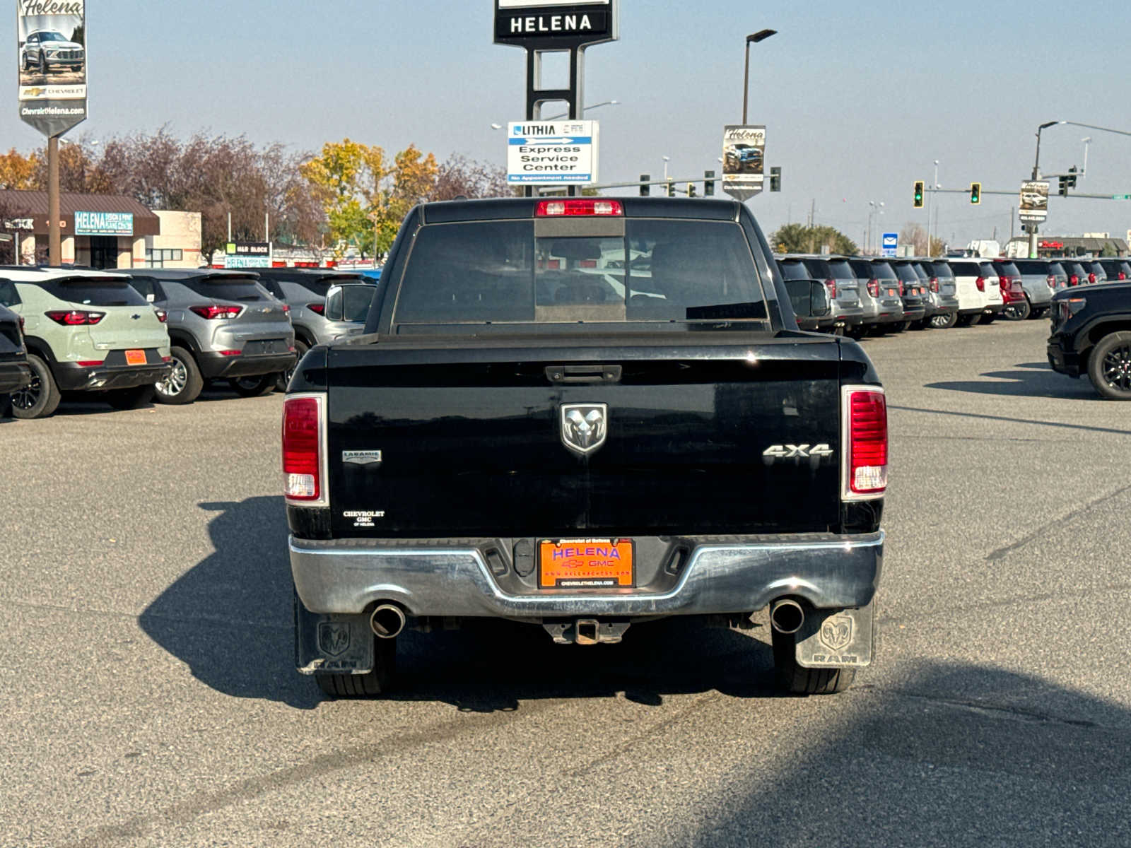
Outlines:
[[155,399],[189,404],[206,382],[226,379],[244,397],[266,395],[294,366],[294,330],[286,304],[248,271],[128,271],[133,287],[167,314],[173,369]]

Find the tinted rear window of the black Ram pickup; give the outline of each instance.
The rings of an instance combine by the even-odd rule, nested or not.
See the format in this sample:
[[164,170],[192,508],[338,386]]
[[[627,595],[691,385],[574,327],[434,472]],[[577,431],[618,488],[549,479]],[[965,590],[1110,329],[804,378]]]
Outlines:
[[530,220],[422,227],[394,312],[400,326],[766,318],[737,224],[648,218],[623,237],[535,237]]

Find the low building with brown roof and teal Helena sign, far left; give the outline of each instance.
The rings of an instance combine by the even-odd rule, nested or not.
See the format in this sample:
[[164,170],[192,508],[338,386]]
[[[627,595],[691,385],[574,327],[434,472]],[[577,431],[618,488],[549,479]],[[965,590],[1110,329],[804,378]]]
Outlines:
[[[61,192],[59,200],[64,265],[196,268],[200,262],[199,213],[155,213],[124,194]],[[0,190],[0,232],[15,240],[10,260],[46,261],[48,192]]]

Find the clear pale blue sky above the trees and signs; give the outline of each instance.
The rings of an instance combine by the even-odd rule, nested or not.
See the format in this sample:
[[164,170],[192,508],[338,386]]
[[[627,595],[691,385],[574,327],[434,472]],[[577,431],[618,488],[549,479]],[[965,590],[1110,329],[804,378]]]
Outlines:
[[[521,120],[525,53],[492,44],[491,0],[92,0],[87,11],[90,118],[68,138],[107,139],[169,126],[245,135],[317,150],[349,137],[397,150],[415,144],[506,162],[503,131]],[[42,137],[17,114],[15,15],[0,21],[9,61],[0,146]],[[1035,132],[1064,120],[1131,132],[1126,33],[1131,7],[1047,0],[843,5],[739,0],[620,0],[618,42],[587,51],[588,114],[601,121],[601,180],[677,179],[720,170],[723,127],[742,118],[744,38],[751,47],[750,123],[767,127],[767,166],[780,193],[749,201],[762,228],[814,220],[865,237],[926,225],[915,180],[935,196],[951,244],[1004,242],[1016,192],[1033,170]],[[7,40],[7,41],[5,41]],[[1119,59],[1119,55],[1124,58]],[[1042,136],[1046,173],[1083,164],[1078,190],[1131,193],[1131,136],[1060,126]],[[972,181],[983,185],[969,204]],[[1056,185],[1053,181],[1052,191]],[[880,208],[877,206],[875,208]],[[1011,209],[1013,209],[1011,222]],[[1131,201],[1050,200],[1043,233],[1131,228]],[[874,237],[874,236],[873,236]]]

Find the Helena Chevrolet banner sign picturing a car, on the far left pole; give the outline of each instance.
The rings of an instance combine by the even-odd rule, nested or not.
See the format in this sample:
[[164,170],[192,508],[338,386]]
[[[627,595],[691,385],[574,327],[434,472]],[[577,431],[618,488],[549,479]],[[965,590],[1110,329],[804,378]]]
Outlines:
[[19,116],[44,136],[86,120],[85,0],[16,0]]

